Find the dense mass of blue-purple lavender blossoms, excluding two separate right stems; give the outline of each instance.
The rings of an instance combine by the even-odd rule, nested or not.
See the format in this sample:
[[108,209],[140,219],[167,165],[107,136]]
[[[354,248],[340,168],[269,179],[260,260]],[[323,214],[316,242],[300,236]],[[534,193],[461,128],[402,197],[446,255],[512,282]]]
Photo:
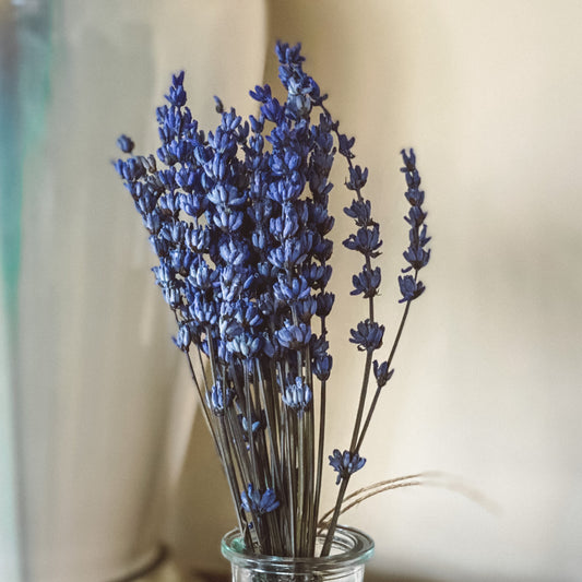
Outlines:
[[[234,109],[223,111],[205,136],[185,106],[182,72],[173,78],[169,105],[157,109],[164,168],[153,156],[116,163],[159,257],[153,271],[178,319],[176,344],[200,345],[216,369],[239,373],[253,358],[276,356],[299,375],[289,351],[309,351],[318,338],[312,318],[333,305],[325,292],[332,121],[321,114],[310,122],[322,97],[298,47],[280,44],[277,54],[285,104],[269,85],[257,87],[258,118],[242,122]],[[118,144],[133,149],[124,135]]]

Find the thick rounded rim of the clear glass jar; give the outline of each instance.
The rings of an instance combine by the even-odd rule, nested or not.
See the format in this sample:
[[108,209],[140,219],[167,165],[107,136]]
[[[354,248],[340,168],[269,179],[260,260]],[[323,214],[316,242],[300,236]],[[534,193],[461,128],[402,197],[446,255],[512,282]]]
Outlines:
[[237,549],[242,547],[242,544],[239,530],[228,532],[221,544],[223,556],[235,566],[264,573],[340,573],[364,565],[373,554],[373,539],[370,536],[355,527],[343,525],[337,526],[333,537],[333,547],[340,551],[325,557],[294,558],[247,554]]

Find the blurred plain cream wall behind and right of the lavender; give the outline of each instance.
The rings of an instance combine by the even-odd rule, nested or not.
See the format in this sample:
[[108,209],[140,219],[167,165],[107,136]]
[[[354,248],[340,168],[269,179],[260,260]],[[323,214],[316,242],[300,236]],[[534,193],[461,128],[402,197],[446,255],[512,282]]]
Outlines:
[[[378,312],[389,335],[406,245],[403,146],[415,146],[427,191],[428,290],[411,313],[354,486],[439,470],[498,508],[430,487],[371,499],[345,518],[375,536],[371,570],[380,579],[579,579],[582,4],[305,0],[269,8],[271,44],[302,41],[307,69],[370,168],[384,240]],[[268,68],[270,81],[273,73]],[[346,194],[337,188],[334,197],[347,233]],[[343,426],[363,364],[346,341],[364,313],[347,296],[357,261],[340,245],[337,252],[330,449],[347,444]],[[190,490],[192,515],[198,495],[207,494]],[[204,527],[191,533],[203,536]],[[192,547],[200,539],[192,536]]]

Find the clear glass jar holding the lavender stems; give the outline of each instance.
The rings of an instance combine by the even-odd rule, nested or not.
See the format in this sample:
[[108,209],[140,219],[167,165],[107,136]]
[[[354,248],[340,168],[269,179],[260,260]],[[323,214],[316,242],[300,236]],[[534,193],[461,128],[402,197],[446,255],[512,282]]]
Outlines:
[[[319,541],[323,545],[323,537]],[[373,541],[352,527],[338,526],[330,556],[281,558],[245,551],[238,530],[223,537],[222,553],[230,561],[233,582],[363,582]]]

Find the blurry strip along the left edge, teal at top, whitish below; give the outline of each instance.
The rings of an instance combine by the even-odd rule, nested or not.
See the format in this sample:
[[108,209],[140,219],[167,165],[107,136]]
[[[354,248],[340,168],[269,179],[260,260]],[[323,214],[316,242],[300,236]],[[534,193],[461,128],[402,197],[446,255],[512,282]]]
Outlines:
[[[49,96],[50,3],[0,12],[0,579],[26,578],[19,499],[17,337],[23,175],[44,138]],[[34,234],[33,234],[34,236]]]

